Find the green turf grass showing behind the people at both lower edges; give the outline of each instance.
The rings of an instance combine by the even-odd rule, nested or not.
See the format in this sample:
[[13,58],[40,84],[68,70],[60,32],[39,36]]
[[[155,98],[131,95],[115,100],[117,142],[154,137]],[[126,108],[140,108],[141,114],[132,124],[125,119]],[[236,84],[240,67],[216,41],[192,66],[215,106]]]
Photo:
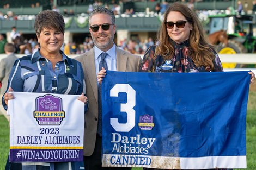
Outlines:
[[[256,92],[249,92],[246,121],[247,169],[256,169]],[[4,170],[9,153],[9,122],[0,115],[0,170]],[[132,168],[142,170],[142,168]]]

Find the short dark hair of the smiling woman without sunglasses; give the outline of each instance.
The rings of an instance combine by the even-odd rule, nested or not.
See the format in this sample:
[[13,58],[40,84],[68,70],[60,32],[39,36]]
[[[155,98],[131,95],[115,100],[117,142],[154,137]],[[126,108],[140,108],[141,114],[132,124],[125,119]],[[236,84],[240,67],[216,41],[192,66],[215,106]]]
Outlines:
[[53,10],[44,10],[39,12],[35,18],[35,34],[40,35],[43,28],[56,29],[59,32],[65,32],[65,22],[59,12]]

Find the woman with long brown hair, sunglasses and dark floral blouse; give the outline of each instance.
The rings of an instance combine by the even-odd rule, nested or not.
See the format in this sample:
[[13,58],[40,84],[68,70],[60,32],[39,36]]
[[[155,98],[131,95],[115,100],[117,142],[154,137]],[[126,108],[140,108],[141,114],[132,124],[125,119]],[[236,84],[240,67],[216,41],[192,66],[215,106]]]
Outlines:
[[[204,37],[197,15],[186,5],[173,3],[166,10],[157,46],[148,48],[141,72],[219,72],[220,58]],[[251,84],[255,79],[251,74]],[[150,168],[143,168],[147,170]]]

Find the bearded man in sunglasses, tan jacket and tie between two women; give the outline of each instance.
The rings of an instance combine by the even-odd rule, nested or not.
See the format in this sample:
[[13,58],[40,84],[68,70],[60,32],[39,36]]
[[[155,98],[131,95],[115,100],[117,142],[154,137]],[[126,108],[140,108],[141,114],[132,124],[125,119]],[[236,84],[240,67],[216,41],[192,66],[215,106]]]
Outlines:
[[[112,10],[104,7],[95,8],[89,14],[89,26],[95,46],[90,51],[75,58],[83,66],[86,95],[90,103],[84,124],[84,166],[86,170],[131,169],[101,167],[102,121],[98,108],[101,107],[101,104],[98,103],[101,100],[99,101],[98,97],[97,74],[101,69],[136,72],[141,65],[141,57],[115,46],[115,16]],[[104,57],[102,57],[103,54],[105,54]],[[104,62],[103,65],[102,62]]]

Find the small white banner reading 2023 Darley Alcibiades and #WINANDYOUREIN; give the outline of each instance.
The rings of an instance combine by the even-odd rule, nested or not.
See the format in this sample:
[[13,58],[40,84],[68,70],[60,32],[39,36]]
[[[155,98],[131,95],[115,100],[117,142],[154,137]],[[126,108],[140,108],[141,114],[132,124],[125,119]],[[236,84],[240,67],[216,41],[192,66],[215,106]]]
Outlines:
[[12,93],[10,162],[83,161],[84,103],[77,95]]

